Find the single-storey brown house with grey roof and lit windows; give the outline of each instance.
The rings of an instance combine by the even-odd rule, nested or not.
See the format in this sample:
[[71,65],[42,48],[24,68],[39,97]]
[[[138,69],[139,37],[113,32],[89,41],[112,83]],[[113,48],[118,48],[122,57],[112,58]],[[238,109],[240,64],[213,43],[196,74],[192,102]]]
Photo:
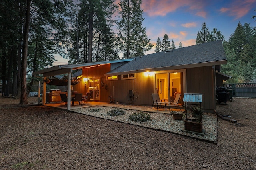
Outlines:
[[68,73],[71,78],[73,70],[81,69],[80,83],[68,91],[92,92],[91,100],[100,102],[151,105],[152,93],[166,100],[175,92],[202,93],[202,107],[213,112],[216,86],[222,86],[226,78],[219,75],[220,65],[226,63],[222,42],[212,41],[131,59],[55,66],[33,74],[48,77]]

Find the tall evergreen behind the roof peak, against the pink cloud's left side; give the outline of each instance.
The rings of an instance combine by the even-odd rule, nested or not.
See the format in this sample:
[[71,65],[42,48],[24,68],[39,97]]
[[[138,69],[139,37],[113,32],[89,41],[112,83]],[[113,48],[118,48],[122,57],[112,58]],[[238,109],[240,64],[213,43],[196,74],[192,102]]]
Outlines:
[[118,36],[124,58],[144,55],[153,47],[146,35],[146,28],[142,27],[144,18],[141,3],[142,0],[120,0],[119,3],[121,19],[118,21]]

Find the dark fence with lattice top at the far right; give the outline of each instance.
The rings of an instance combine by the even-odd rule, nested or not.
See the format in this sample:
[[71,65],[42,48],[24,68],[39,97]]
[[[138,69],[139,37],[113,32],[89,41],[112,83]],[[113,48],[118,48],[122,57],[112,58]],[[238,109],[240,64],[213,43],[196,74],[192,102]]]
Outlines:
[[256,83],[223,84],[227,89],[232,89],[232,97],[256,98]]

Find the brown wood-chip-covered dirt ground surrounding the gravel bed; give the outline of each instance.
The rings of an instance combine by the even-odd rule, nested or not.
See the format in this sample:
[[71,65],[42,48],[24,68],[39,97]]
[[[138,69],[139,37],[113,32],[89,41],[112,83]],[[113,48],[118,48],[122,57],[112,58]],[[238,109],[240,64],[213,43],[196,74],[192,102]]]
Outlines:
[[[31,103],[37,98],[29,98]],[[0,98],[0,169],[256,169],[256,99],[217,111],[217,144]]]

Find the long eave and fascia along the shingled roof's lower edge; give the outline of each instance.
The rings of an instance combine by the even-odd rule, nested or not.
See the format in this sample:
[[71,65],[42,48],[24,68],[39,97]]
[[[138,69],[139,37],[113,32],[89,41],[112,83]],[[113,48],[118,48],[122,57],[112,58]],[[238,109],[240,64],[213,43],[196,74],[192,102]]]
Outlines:
[[227,60],[220,60],[220,61],[211,61],[211,62],[204,62],[204,63],[194,63],[194,64],[184,64],[184,65],[175,65],[175,66],[167,66],[167,67],[157,67],[157,68],[145,68],[140,70],[124,70],[123,72],[109,72],[105,73],[105,76],[114,76],[114,75],[121,75],[121,74],[134,74],[140,72],[154,72],[154,71],[163,71],[163,70],[180,70],[186,68],[196,68],[196,67],[203,67],[203,66],[214,66],[214,65],[221,65],[226,64]]

